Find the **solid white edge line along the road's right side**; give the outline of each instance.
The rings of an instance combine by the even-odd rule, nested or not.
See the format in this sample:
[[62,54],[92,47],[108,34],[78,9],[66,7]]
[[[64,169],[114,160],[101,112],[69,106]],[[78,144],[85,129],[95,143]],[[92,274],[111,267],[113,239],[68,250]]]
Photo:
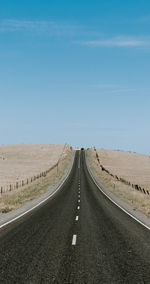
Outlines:
[[118,203],[116,203],[111,197],[109,197],[98,185],[97,181],[95,180],[95,178],[93,177],[91,171],[89,170],[89,168],[87,167],[88,172],[91,176],[91,178],[93,179],[94,183],[96,184],[96,186],[99,188],[99,190],[112,202],[114,203],[117,207],[119,207],[123,212],[125,212],[127,215],[129,215],[131,218],[133,218],[135,221],[137,221],[139,224],[141,224],[142,226],[144,226],[146,229],[150,230],[150,227],[145,225],[142,221],[140,221],[139,219],[137,219],[136,217],[134,217],[132,214],[130,214],[128,211],[126,211],[123,207],[121,207]]

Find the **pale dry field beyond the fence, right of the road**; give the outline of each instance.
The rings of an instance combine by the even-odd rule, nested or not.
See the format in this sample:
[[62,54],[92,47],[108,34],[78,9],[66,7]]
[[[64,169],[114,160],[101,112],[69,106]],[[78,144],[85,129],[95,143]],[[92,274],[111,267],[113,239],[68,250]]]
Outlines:
[[97,149],[101,164],[113,175],[150,189],[150,156]]

